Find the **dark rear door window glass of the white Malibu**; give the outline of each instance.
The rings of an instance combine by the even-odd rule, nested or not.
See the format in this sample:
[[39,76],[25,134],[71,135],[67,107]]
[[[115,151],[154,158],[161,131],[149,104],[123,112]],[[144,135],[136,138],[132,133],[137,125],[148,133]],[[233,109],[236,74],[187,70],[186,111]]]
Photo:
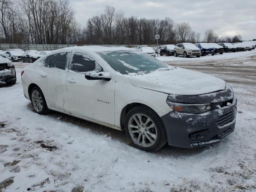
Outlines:
[[47,57],[47,60],[44,62],[44,66],[49,68],[59,68],[65,70],[67,63],[67,52],[57,53]]

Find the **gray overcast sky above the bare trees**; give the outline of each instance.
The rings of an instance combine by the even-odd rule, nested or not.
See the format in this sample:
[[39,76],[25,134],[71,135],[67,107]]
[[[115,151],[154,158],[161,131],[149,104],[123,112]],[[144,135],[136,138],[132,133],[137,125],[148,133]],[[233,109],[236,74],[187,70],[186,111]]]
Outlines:
[[201,37],[212,28],[219,36],[240,34],[244,40],[256,38],[256,0],[70,0],[70,4],[82,26],[108,5],[123,10],[127,17],[168,16],[174,22],[190,22],[192,30],[200,32]]

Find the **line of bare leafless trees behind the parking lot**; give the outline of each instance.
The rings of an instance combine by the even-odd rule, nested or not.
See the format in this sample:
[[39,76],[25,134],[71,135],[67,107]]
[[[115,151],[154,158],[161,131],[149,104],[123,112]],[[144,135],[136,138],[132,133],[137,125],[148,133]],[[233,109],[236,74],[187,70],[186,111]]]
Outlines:
[[240,35],[219,38],[212,29],[201,37],[188,22],[125,17],[111,6],[82,28],[69,0],[0,0],[0,31],[0,43],[16,44],[156,44],[156,34],[159,44],[242,40]]

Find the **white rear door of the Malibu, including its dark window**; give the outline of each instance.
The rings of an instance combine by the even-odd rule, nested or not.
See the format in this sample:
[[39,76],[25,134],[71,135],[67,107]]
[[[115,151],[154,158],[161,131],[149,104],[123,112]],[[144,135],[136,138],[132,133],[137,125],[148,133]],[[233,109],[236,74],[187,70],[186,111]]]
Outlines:
[[50,106],[58,110],[64,110],[64,103],[67,102],[67,55],[68,52],[62,52],[46,57],[39,72],[42,92]]

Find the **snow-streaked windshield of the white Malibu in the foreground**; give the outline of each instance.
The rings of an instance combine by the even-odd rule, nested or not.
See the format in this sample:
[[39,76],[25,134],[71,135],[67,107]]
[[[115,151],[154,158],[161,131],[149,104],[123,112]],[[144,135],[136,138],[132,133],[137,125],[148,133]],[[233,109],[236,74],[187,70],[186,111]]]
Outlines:
[[121,74],[147,74],[160,68],[168,68],[152,56],[135,50],[100,52],[98,54]]

